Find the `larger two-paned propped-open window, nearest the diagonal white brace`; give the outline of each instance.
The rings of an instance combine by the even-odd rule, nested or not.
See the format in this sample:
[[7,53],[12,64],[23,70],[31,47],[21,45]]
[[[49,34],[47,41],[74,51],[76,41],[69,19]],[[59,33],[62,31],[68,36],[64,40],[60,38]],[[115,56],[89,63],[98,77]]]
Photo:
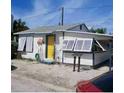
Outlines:
[[91,52],[92,41],[92,39],[77,40],[74,51]]

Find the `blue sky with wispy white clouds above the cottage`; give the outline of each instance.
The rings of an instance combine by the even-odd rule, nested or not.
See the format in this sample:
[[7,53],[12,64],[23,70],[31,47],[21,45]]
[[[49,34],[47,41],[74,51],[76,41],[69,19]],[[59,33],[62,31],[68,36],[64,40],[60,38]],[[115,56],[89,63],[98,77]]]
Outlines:
[[58,25],[64,7],[64,24],[85,23],[88,28],[113,32],[112,0],[11,0],[14,19],[21,18],[29,28]]

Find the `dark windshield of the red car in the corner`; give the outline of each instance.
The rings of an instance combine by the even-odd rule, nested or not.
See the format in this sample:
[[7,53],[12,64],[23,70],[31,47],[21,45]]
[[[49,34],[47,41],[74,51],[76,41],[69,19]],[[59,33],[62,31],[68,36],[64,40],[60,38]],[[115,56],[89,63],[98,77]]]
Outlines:
[[91,80],[91,82],[103,90],[104,92],[113,91],[113,72],[106,73],[96,79]]

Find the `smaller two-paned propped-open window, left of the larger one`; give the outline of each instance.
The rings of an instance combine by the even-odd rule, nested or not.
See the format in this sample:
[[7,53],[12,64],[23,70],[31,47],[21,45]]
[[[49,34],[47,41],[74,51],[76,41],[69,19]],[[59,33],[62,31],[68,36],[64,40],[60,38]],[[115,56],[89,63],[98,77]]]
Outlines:
[[63,41],[63,50],[72,51],[75,40],[64,40]]

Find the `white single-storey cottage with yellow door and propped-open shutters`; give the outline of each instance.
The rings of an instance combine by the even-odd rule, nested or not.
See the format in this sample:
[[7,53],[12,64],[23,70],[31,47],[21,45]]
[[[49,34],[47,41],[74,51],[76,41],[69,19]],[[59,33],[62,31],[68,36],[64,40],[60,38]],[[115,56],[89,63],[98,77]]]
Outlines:
[[90,33],[85,24],[43,26],[15,35],[22,58],[35,60],[39,53],[42,59],[73,64],[74,54],[80,54],[81,65],[95,66],[112,56],[113,36]]

